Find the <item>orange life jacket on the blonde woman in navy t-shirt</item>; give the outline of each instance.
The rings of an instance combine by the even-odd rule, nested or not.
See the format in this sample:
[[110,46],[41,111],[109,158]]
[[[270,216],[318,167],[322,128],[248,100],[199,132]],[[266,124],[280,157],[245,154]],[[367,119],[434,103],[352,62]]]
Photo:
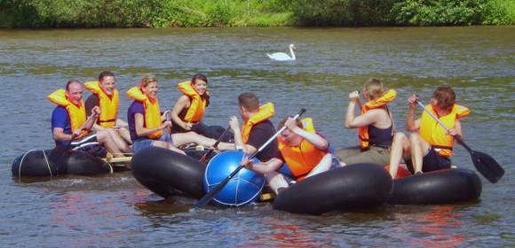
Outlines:
[[[159,101],[157,98],[151,100],[139,89],[139,87],[132,87],[127,91],[127,96],[139,101],[145,108],[145,124],[144,127],[148,129],[158,128],[161,126],[161,112],[159,110]],[[162,130],[157,130],[154,133],[147,135],[149,139],[159,139],[162,136]]]

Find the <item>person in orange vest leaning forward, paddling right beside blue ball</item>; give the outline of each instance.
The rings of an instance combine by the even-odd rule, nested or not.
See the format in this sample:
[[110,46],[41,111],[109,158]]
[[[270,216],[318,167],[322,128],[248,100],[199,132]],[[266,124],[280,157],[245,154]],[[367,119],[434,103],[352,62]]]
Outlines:
[[273,159],[252,164],[244,159],[246,168],[265,174],[266,181],[275,194],[281,193],[290,184],[329,169],[342,167],[339,159],[329,151],[329,142],[313,128],[313,120],[302,121],[288,117],[279,128],[286,126],[278,137],[279,151]]

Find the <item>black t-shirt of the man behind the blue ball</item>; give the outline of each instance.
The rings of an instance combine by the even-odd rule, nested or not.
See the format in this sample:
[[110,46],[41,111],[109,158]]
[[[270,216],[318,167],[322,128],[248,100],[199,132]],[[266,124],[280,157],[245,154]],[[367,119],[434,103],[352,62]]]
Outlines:
[[[259,149],[259,147],[261,147],[261,145],[263,145],[274,134],[275,128],[273,128],[272,121],[265,120],[259,122],[250,130],[249,141],[247,141],[247,144],[250,144],[256,149]],[[265,149],[263,149],[263,151],[258,153],[256,158],[262,162],[266,162],[276,156],[278,152],[279,150],[277,149],[277,139],[273,139],[273,141],[269,143]]]

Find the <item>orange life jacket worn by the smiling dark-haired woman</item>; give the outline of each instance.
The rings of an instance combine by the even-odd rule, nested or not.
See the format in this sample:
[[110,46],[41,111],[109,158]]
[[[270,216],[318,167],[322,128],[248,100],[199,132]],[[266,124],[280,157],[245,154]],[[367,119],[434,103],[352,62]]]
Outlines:
[[[182,92],[182,94],[191,99],[191,103],[187,109],[184,120],[188,122],[197,122],[202,120],[202,116],[206,109],[207,100],[202,98],[202,96],[197,93],[197,91],[191,85],[191,81],[183,81],[178,83],[177,89]],[[209,95],[210,93],[206,90],[204,94]]]

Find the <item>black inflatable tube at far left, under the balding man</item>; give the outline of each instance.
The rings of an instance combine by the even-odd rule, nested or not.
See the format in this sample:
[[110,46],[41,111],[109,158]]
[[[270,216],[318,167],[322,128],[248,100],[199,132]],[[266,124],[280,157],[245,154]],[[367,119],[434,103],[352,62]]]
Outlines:
[[55,177],[60,174],[96,175],[113,173],[110,163],[85,151],[30,150],[12,161],[12,175]]

